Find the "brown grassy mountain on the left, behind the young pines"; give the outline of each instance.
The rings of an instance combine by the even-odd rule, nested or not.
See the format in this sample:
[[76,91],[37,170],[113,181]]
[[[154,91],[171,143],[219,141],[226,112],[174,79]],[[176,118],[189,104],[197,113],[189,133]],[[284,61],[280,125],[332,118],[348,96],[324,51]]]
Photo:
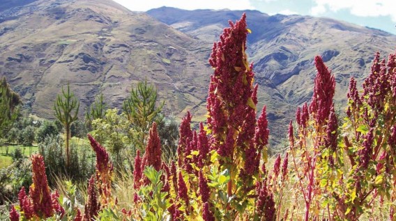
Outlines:
[[37,0],[0,18],[0,76],[40,117],[54,117],[56,95],[68,83],[82,114],[100,92],[121,108],[131,84],[144,79],[158,87],[167,113],[204,102],[210,49],[144,13],[108,0]]

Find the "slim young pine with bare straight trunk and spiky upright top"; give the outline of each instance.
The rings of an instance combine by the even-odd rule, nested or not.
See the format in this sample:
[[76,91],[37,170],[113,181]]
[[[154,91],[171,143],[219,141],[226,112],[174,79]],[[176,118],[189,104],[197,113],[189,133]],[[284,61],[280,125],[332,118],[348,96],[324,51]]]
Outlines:
[[[68,90],[65,92],[62,87],[62,95],[56,97],[54,104],[55,117],[65,127],[65,142],[66,142],[66,165],[70,165],[70,126],[73,122],[78,119],[79,100],[75,97],[73,92],[70,92],[70,85],[68,84]],[[74,112],[74,113],[73,113]]]

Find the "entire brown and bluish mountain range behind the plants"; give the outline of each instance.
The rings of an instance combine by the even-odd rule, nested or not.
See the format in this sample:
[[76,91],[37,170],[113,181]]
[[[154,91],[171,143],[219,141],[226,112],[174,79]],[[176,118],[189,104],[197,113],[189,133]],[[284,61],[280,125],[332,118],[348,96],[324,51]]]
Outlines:
[[267,106],[274,144],[286,136],[296,106],[312,96],[314,56],[335,74],[342,110],[350,77],[361,83],[376,51],[395,50],[396,35],[335,19],[167,7],[137,13],[110,0],[3,0],[0,76],[39,117],[54,117],[56,95],[68,83],[83,114],[100,92],[108,106],[121,108],[131,86],[147,79],[167,115],[191,111],[202,121],[213,42],[243,13],[259,108]]

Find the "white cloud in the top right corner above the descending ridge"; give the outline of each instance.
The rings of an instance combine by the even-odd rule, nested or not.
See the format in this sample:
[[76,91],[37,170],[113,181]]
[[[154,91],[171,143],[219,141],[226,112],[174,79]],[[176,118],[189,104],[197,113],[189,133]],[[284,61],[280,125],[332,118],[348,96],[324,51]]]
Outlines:
[[346,9],[360,17],[390,16],[396,22],[395,0],[314,0],[312,15],[321,15],[327,10],[337,12]]

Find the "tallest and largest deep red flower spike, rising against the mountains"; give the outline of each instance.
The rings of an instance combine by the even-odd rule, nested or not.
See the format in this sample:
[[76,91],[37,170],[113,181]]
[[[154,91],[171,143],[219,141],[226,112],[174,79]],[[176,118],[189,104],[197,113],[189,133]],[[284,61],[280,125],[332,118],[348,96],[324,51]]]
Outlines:
[[[235,24],[230,22],[230,27],[224,28],[220,42],[213,45],[209,58],[215,69],[206,106],[206,122],[212,132],[210,147],[227,158],[233,156],[235,141],[240,146],[244,140],[254,137],[257,89],[253,88],[254,73],[245,54],[247,35],[244,14],[241,20]],[[236,130],[241,133],[236,133]]]

